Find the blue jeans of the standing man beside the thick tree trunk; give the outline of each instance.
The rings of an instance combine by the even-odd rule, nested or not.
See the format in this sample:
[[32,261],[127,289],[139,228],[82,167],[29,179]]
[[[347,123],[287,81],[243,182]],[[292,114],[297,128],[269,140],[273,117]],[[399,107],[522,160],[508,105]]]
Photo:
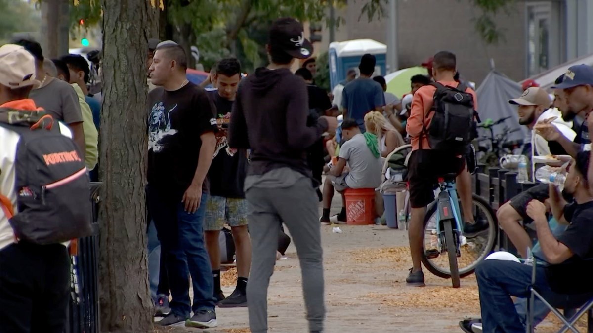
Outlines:
[[[171,312],[187,317],[190,311],[214,310],[212,267],[204,242],[204,216],[208,194],[202,193],[200,207],[187,213],[184,204],[148,187],[148,209],[165,255],[173,300]],[[192,277],[193,304],[190,307],[189,277]]]

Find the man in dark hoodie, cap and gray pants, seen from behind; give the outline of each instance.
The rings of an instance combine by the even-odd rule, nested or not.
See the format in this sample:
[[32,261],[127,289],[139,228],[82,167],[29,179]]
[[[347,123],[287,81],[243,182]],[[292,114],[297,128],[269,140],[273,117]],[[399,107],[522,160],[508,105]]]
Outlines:
[[[229,127],[229,146],[251,149],[245,180],[250,205],[251,273],[247,284],[251,332],[267,332],[267,287],[276,261],[283,221],[294,238],[311,332],[323,331],[325,317],[323,251],[317,221],[317,184],[311,178],[305,149],[336,119],[320,117],[307,127],[305,82],[293,75],[294,58],[311,56],[302,24],[292,18],[273,23],[266,46],[267,68],[258,68],[239,87]],[[315,182],[316,183],[316,182]]]

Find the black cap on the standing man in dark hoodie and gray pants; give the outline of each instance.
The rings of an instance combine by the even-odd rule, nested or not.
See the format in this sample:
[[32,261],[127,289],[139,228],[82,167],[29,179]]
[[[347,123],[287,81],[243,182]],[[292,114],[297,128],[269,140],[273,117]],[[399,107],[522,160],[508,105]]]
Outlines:
[[294,18],[279,18],[270,28],[269,44],[297,59],[313,55],[313,44],[305,39],[302,24]]

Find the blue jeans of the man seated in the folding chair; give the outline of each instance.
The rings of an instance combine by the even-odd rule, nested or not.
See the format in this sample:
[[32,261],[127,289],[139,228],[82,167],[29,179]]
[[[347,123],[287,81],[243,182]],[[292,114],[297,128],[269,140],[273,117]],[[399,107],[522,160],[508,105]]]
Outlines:
[[[476,268],[484,333],[525,332],[511,296],[530,296],[532,271],[529,265],[505,260],[484,260]],[[535,277],[535,289],[549,292],[543,267],[537,268]]]

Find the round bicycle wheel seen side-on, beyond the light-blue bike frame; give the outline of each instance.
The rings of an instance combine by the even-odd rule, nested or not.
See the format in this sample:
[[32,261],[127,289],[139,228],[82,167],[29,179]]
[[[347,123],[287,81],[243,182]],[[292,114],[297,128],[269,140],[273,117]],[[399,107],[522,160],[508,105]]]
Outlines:
[[[490,205],[476,195],[473,196],[473,215],[476,221],[486,223],[487,228],[477,233],[477,235],[473,235],[471,238],[466,236],[466,244],[462,243],[463,245],[460,246],[461,257],[457,258],[460,277],[466,277],[474,273],[477,265],[496,246],[496,235],[498,235],[496,215],[492,208],[490,208]],[[422,263],[432,274],[442,278],[449,278],[451,277],[451,267],[449,267],[448,256],[444,255],[447,248],[445,247],[446,244],[441,244],[438,240],[436,223],[436,204],[432,204],[424,219],[424,251],[422,253]]]

